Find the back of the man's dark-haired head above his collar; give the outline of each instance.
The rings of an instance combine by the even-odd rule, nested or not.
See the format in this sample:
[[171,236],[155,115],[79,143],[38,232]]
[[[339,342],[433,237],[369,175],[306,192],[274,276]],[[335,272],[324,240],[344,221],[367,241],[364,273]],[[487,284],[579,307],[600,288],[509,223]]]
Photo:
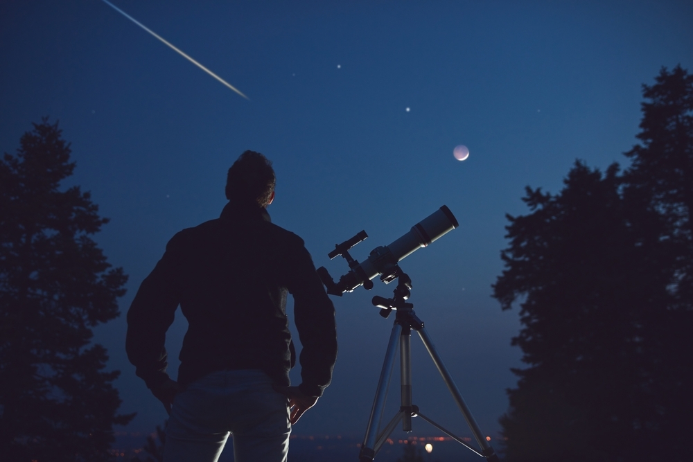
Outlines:
[[259,152],[245,151],[229,168],[226,177],[226,198],[256,202],[261,207],[270,203],[277,178],[272,162]]

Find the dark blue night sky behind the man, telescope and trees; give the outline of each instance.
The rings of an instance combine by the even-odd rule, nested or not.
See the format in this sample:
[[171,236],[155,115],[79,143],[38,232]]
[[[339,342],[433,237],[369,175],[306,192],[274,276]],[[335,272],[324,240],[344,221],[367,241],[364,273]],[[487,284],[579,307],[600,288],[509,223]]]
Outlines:
[[[527,185],[556,192],[575,159],[604,168],[635,143],[642,83],[661,66],[693,69],[687,1],[174,1],[114,3],[243,91],[245,100],[100,0],[0,3],[0,150],[32,121],[59,119],[78,168],[111,218],[96,236],[130,275],[123,314],[179,229],[217,217],[225,172],[246,149],[277,171],[275,223],[306,241],[316,266],[361,229],[364,259],[439,206],[459,229],[401,263],[412,303],[484,432],[498,432],[517,310],[491,284],[505,213]],[[407,112],[406,108],[410,111]],[[465,144],[470,157],[453,158]],[[333,385],[297,434],[361,436],[392,320],[378,283],[334,299]],[[186,328],[168,335],[177,353]],[[124,353],[125,319],[96,330],[122,371],[128,429],[166,414]],[[414,339],[414,402],[469,434]],[[393,383],[396,383],[396,376]],[[392,388],[392,409],[398,391]],[[394,411],[394,410],[393,410]],[[435,434],[415,421],[419,434]]]

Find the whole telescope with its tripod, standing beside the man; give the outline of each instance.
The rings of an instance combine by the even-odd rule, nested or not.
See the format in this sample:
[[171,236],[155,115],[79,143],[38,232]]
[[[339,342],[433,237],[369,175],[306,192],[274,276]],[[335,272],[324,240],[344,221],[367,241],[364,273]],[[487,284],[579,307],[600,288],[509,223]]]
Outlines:
[[[392,333],[385,351],[383,369],[380,371],[380,379],[378,380],[373,407],[371,407],[371,416],[368,419],[366,435],[363,438],[362,445],[360,445],[359,462],[373,462],[378,451],[380,451],[386,441],[389,441],[389,435],[392,434],[399,422],[402,423],[403,431],[411,432],[412,418],[414,417],[420,417],[422,420],[430,423],[441,432],[450,436],[450,438],[453,438],[457,443],[482,456],[487,462],[500,462],[493,447],[489,444],[491,438],[484,436],[484,433],[482,433],[464,399],[462,399],[462,394],[459,393],[457,385],[453,382],[450,371],[443,364],[443,360],[433,345],[430,335],[426,332],[426,328],[423,327],[423,321],[414,313],[414,304],[408,301],[411,295],[412,280],[397,265],[403,258],[407,258],[407,256],[421,249],[421,247],[428,247],[432,242],[457,228],[457,226],[459,224],[457,224],[455,215],[450,212],[448,207],[442,206],[434,213],[428,215],[428,217],[414,224],[410,231],[401,238],[394,240],[392,244],[373,249],[363,263],[358,263],[358,261],[351,258],[349,249],[368,238],[366,231],[361,231],[353,238],[335,245],[335,249],[328,254],[330,260],[337,256],[342,256],[349,263],[349,272],[340,277],[339,282],[335,283],[333,281],[332,276],[330,276],[325,267],[317,269],[317,274],[319,274],[322,283],[327,288],[327,293],[337,296],[342,296],[344,292],[352,292],[360,285],[363,285],[367,290],[372,289],[373,283],[371,279],[378,275],[380,275],[380,281],[386,284],[391,283],[395,279],[399,281],[392,299],[374,296],[372,301],[374,305],[381,308],[380,315],[382,317],[387,318],[394,311],[396,312],[396,319],[394,320]],[[410,343],[412,330],[421,337],[426,350],[428,350],[431,359],[433,359],[441,377],[443,377],[443,381],[453,395],[453,400],[457,403],[457,407],[459,407],[467,425],[469,425],[480,450],[476,450],[471,445],[468,445],[463,438],[455,436],[450,430],[441,427],[434,420],[421,414],[419,406],[414,405],[412,402],[412,355]],[[380,423],[385,410],[387,389],[398,349],[400,350],[401,406],[394,418],[385,427],[381,427]]]

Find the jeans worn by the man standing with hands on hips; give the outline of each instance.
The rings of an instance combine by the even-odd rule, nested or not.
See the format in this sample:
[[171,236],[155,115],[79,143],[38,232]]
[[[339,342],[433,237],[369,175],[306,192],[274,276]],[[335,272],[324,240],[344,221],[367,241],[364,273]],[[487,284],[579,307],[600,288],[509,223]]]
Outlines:
[[286,462],[289,407],[263,371],[218,371],[175,396],[164,462],[216,462],[229,434],[236,462]]

